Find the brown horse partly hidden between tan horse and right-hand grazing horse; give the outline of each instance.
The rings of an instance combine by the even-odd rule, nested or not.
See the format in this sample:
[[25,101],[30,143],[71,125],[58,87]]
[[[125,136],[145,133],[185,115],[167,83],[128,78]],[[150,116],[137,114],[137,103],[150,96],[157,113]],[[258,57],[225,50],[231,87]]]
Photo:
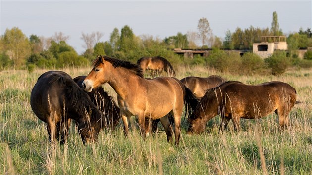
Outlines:
[[206,90],[219,86],[225,82],[225,79],[217,75],[211,75],[209,77],[191,76],[181,79],[181,82],[200,100],[205,95]]

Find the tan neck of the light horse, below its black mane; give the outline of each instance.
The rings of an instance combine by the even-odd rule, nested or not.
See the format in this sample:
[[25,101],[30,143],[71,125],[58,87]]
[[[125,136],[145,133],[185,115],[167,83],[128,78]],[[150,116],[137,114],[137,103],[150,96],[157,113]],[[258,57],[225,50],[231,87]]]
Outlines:
[[128,94],[129,88],[136,84],[133,80],[140,78],[133,72],[119,67],[111,71],[110,77],[107,83],[116,91],[118,96],[121,97],[125,97]]

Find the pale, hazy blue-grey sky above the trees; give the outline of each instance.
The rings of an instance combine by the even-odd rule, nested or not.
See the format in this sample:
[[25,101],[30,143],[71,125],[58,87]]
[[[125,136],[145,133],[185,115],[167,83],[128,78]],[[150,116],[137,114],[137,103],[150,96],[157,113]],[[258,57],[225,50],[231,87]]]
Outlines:
[[164,39],[197,32],[205,17],[213,35],[224,38],[237,27],[270,28],[274,11],[285,34],[312,28],[312,0],[0,0],[0,35],[13,27],[28,37],[62,32],[81,54],[82,32],[103,32],[104,42],[114,28],[128,25],[136,36]]

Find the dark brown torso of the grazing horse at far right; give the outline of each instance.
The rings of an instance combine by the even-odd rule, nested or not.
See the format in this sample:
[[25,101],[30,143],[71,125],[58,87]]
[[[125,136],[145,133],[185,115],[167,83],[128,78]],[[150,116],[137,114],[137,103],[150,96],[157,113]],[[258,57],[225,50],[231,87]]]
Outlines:
[[283,82],[259,85],[233,83],[220,88],[224,113],[235,111],[242,118],[264,117],[277,109],[290,110],[296,101],[296,90]]

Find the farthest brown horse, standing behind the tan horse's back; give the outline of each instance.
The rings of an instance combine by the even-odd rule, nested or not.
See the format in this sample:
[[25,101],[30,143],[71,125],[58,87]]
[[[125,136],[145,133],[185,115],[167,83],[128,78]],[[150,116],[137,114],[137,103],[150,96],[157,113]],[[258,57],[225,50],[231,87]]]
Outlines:
[[146,69],[152,71],[152,78],[159,75],[162,71],[166,71],[169,76],[175,76],[175,71],[170,62],[161,56],[142,57],[137,61],[137,64],[142,68],[143,73]]

